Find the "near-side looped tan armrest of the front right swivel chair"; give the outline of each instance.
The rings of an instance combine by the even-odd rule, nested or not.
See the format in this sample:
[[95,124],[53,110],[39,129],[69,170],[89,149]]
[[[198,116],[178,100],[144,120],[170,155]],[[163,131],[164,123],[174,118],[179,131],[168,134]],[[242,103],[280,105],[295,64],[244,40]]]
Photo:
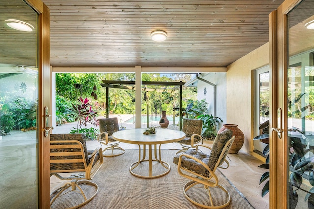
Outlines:
[[[181,161],[182,161],[182,157],[183,157],[183,156],[185,156],[186,158],[193,159],[193,160],[195,160],[196,162],[200,163],[202,166],[204,166],[205,169],[208,170],[209,173],[210,173],[209,177],[208,177],[208,176],[203,176],[203,175],[198,174],[198,173],[196,173],[196,172],[194,172],[194,171],[192,171],[192,170],[189,170],[189,169],[187,169],[187,168],[182,167],[182,166],[181,166]],[[184,170],[184,171],[190,173],[191,176],[190,176],[190,175],[187,175],[187,174],[184,174],[181,170]],[[208,166],[207,164],[205,164],[203,161],[199,160],[198,158],[196,158],[196,157],[194,157],[194,156],[192,156],[192,155],[188,155],[188,154],[186,154],[186,153],[182,153],[182,154],[179,156],[179,161],[178,161],[178,173],[179,173],[181,176],[185,177],[185,178],[188,178],[188,179],[191,179],[191,180],[194,180],[194,181],[197,181],[197,182],[204,181],[204,182],[206,182],[206,183],[205,183],[206,185],[208,185],[208,184],[210,184],[211,186],[216,186],[216,185],[218,185],[218,177],[217,177],[217,176],[215,175],[215,173],[209,168],[209,166]],[[201,177],[201,179],[204,179],[204,180],[201,180],[201,179],[195,177],[195,175],[198,176],[198,177]],[[215,182],[209,183],[209,182],[207,181],[207,180],[210,180],[211,178],[214,178],[214,179],[215,179]]]

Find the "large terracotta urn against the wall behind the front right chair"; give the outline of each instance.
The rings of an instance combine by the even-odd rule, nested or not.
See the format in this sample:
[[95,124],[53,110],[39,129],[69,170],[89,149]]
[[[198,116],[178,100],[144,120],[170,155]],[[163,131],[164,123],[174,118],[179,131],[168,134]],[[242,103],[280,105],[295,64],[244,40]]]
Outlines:
[[228,153],[237,154],[244,143],[244,134],[235,124],[223,124],[223,127],[219,129],[218,134],[225,129],[230,129],[232,131],[232,136],[235,136],[235,141],[232,144]]

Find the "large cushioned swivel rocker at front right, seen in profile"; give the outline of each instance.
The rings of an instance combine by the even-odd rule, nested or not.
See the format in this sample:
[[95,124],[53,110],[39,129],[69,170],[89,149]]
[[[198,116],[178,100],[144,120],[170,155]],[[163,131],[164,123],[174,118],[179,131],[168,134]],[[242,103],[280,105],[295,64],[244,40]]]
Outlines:
[[[212,148],[199,144],[195,149],[188,149],[180,156],[174,157],[173,163],[178,165],[178,173],[192,180],[183,187],[184,195],[190,202],[209,209],[229,205],[230,194],[219,185],[215,172],[218,167],[223,169],[229,167],[226,156],[234,140],[235,136],[232,137],[232,131],[226,129],[216,136]],[[208,148],[210,155],[200,151],[199,147]]]

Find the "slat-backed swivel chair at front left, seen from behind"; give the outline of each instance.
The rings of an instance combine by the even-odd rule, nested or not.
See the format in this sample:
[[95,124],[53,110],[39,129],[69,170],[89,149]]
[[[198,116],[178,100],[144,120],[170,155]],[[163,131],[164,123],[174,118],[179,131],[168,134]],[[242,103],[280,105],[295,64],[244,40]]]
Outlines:
[[[51,208],[58,197],[71,193],[81,193],[81,201],[68,209],[78,208],[91,201],[98,192],[98,186],[91,180],[103,164],[102,148],[88,151],[85,134],[51,134],[50,135],[50,176],[54,175],[67,181],[63,186],[51,193]],[[92,186],[96,192],[87,195],[82,186]],[[70,188],[71,187],[71,188]],[[67,194],[69,195],[69,194]]]

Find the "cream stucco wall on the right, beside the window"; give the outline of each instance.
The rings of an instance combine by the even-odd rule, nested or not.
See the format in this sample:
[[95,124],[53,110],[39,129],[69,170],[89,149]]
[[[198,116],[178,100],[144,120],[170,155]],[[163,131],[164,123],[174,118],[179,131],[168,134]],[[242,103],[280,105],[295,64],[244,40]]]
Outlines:
[[269,43],[255,49],[227,67],[226,114],[224,123],[237,124],[244,133],[242,151],[249,153],[253,130],[252,70],[269,64]]

